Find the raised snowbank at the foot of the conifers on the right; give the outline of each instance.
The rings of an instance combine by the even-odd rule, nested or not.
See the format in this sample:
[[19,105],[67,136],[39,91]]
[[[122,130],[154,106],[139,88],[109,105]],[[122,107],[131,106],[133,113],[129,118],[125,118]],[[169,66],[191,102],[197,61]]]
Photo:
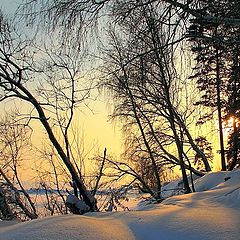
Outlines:
[[240,209],[240,169],[232,172],[211,172],[194,181],[195,193],[164,200],[165,205],[224,205]]

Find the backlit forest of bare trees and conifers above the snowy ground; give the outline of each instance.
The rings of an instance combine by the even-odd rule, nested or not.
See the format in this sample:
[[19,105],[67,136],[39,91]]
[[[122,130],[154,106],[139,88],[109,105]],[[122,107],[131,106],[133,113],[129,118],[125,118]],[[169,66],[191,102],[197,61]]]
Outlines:
[[[79,132],[100,95],[120,157]],[[19,1],[0,11],[0,105],[2,220],[125,209],[133,189],[161,203],[176,179],[193,193],[216,166],[240,167],[240,3]]]

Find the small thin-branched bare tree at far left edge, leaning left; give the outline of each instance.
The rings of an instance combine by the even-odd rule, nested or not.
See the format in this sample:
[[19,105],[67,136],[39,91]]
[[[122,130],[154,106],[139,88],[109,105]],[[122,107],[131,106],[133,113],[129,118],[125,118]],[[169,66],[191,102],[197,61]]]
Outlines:
[[[25,190],[19,176],[21,165],[26,158],[26,152],[31,151],[30,133],[28,126],[15,122],[14,115],[12,117],[5,116],[0,122],[2,197],[4,197],[4,192],[9,195],[9,197],[5,195],[7,198],[5,204],[9,205],[9,209],[12,209],[11,205],[19,207],[23,214],[15,211],[14,215],[22,219],[38,217],[35,204]],[[14,196],[11,196],[9,190],[12,191]],[[9,198],[12,200],[9,200]]]

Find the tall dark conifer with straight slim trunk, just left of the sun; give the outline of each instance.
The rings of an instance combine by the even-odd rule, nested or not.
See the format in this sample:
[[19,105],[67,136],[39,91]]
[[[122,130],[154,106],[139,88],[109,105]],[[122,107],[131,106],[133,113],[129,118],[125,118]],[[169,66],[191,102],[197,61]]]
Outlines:
[[219,0],[200,1],[199,4],[203,16],[215,16],[218,21],[206,21],[201,17],[192,20],[189,35],[193,43],[192,51],[196,54],[195,74],[192,77],[197,80],[197,87],[202,93],[197,104],[217,112],[221,165],[222,170],[226,170],[223,112],[226,107],[231,54],[226,42],[228,32],[221,19],[227,17],[229,6]]

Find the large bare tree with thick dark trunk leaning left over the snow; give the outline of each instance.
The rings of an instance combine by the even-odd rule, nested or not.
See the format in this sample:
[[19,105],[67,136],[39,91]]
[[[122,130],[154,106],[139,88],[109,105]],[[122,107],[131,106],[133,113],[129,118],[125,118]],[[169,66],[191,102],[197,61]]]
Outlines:
[[[82,199],[92,211],[96,210],[96,201],[86,189],[82,177],[71,161],[71,152],[69,150],[68,130],[73,119],[73,110],[79,103],[79,95],[76,96],[78,90],[75,88],[75,83],[79,76],[75,69],[78,66],[70,66],[70,64],[74,64],[70,59],[71,53],[62,52],[61,46],[59,46],[59,51],[55,55],[59,57],[55,62],[52,61],[53,59],[51,59],[51,56],[47,53],[48,59],[45,61],[45,64],[42,64],[42,59],[40,58],[41,51],[36,52],[37,48],[35,48],[35,51],[31,52],[29,47],[30,42],[21,40],[21,37],[14,32],[14,29],[4,21],[2,15],[0,30],[1,102],[7,99],[19,99],[32,108],[29,120],[38,119],[42,124],[48,134],[49,140],[70,172],[72,180],[75,182]],[[37,61],[42,65],[40,69],[37,69]],[[65,61],[70,62],[66,63]],[[49,72],[52,72],[50,75],[46,75],[45,67],[48,68]],[[57,80],[59,73],[54,72],[56,69],[61,70],[60,72],[63,74],[61,75],[60,73],[61,79]],[[51,81],[49,77],[55,79],[55,81]],[[37,91],[33,88],[32,81],[34,79],[35,81],[39,81],[39,84],[35,83],[35,85],[39,85]],[[46,84],[50,83],[50,85],[48,85],[49,89],[42,88],[45,79],[47,80]],[[89,88],[87,88],[86,91],[87,94],[83,94],[82,98],[88,96]],[[82,99],[80,99],[80,101],[82,101]],[[68,109],[68,111],[65,118],[52,119],[51,113],[58,112],[57,116],[61,117],[59,111],[63,112],[66,109]],[[56,124],[59,122],[61,122],[60,131],[63,136],[63,141],[60,140],[58,133],[54,129],[54,126],[57,126]]]

